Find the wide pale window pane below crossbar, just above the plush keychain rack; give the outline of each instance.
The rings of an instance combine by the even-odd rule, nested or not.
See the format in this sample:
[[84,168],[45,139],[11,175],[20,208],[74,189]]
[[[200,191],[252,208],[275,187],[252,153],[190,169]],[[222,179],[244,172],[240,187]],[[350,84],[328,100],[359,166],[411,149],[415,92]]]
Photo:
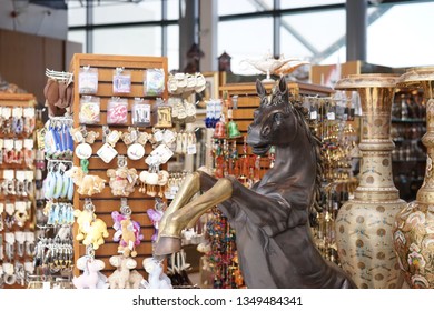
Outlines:
[[161,56],[161,27],[93,30],[93,53]]

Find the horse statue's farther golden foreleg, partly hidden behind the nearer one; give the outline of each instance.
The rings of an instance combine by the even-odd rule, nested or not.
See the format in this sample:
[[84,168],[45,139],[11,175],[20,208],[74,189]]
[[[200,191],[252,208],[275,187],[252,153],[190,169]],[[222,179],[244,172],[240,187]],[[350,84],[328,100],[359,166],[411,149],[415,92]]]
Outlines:
[[178,192],[175,195],[175,199],[171,201],[170,205],[165,211],[159,224],[158,229],[161,232],[167,223],[167,219],[174,212],[184,207],[193,195],[195,195],[200,190],[200,177],[199,173],[194,172],[188,174],[179,188]]

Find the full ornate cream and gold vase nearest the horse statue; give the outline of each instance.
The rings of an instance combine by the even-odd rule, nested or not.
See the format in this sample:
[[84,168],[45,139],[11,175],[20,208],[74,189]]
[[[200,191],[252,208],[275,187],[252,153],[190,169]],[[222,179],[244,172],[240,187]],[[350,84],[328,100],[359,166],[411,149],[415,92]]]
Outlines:
[[393,224],[406,203],[393,183],[391,159],[391,114],[397,78],[356,74],[335,86],[358,91],[362,102],[359,185],[354,199],[338,211],[336,243],[342,268],[363,289],[393,289],[400,277]]

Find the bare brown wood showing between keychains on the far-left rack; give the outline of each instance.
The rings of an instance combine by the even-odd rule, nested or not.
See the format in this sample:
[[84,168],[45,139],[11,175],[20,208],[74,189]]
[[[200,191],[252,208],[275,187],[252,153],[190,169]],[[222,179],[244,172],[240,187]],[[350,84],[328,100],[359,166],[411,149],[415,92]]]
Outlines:
[[[22,108],[27,108],[27,107],[36,107],[36,104],[37,104],[36,98],[34,98],[33,94],[30,94],[30,93],[0,93],[0,106],[1,107],[10,107],[10,108],[22,107]],[[13,138],[17,138],[17,134],[14,134],[14,133],[1,134],[1,138],[2,139],[4,139],[4,138],[13,139]],[[19,139],[23,139],[23,138],[27,138],[27,137],[19,136],[18,138]],[[7,170],[7,169],[14,170],[14,171],[17,171],[17,170],[29,170],[26,167],[24,162],[22,164],[2,163],[0,165],[0,179],[3,179],[3,170]],[[21,198],[21,199],[24,199],[24,198]],[[14,202],[17,200],[17,197],[12,195],[12,194],[4,195],[3,193],[1,193],[0,194],[0,201],[4,202],[4,200],[10,200],[11,202]],[[34,230],[34,209],[36,209],[34,197],[27,198],[26,200],[31,200],[32,201],[32,210],[30,211],[30,219],[29,219],[29,221],[26,222],[23,228],[17,227],[14,224],[12,227],[12,229],[6,229],[4,228],[4,230],[2,232],[0,232],[0,234],[3,235],[3,247],[4,248],[6,248],[6,241],[4,241],[4,233],[6,232],[24,231],[24,230],[33,231]],[[3,213],[6,213],[6,212],[3,212]],[[2,217],[2,215],[0,214],[0,217]],[[17,254],[16,254],[16,259],[21,261],[21,262],[23,262],[24,260],[32,260],[32,258],[29,258],[27,255],[24,255],[24,258],[22,258],[22,259],[19,259],[17,257]],[[0,264],[2,262],[0,262]],[[18,283],[14,283],[13,285],[4,284],[4,288],[21,289],[22,287],[20,284],[18,284]]]

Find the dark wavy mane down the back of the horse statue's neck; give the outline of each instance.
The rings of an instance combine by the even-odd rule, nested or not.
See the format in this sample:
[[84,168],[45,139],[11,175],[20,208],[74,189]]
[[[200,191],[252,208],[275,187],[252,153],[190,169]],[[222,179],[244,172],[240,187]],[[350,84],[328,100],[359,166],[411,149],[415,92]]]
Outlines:
[[289,98],[289,107],[293,107],[294,116],[298,123],[305,129],[307,138],[310,142],[312,150],[316,158],[316,177],[315,177],[315,187],[314,187],[314,195],[312,208],[316,211],[320,211],[320,199],[322,199],[322,175],[323,175],[323,150],[322,142],[319,138],[316,136],[316,132],[313,127],[307,122],[308,120],[308,111],[306,108],[302,106],[300,102],[292,101]]

